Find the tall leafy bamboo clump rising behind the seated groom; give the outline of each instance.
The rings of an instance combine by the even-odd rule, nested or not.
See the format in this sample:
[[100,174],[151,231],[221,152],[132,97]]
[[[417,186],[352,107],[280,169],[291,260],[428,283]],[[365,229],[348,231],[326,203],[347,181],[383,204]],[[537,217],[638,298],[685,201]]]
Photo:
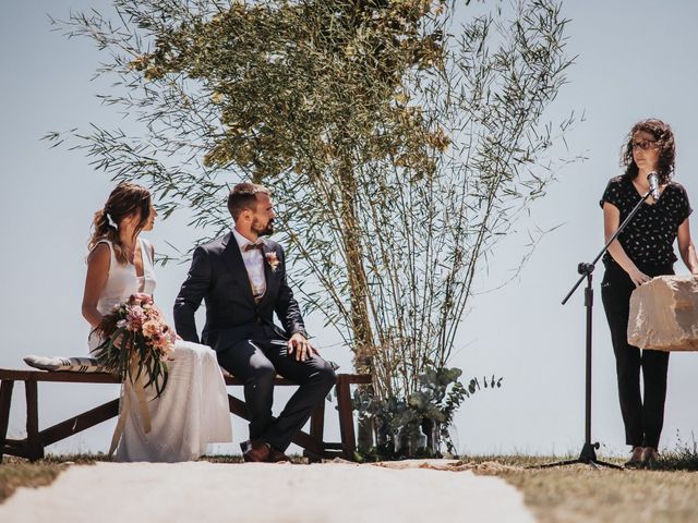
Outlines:
[[[545,110],[571,64],[554,0],[115,0],[61,23],[109,52],[135,130],[76,145],[203,240],[232,183],[274,190],[292,275],[380,398],[445,367],[486,257],[545,194],[575,121]],[[484,14],[471,14],[474,9]],[[456,20],[466,20],[458,24]],[[50,135],[59,142],[62,135]]]

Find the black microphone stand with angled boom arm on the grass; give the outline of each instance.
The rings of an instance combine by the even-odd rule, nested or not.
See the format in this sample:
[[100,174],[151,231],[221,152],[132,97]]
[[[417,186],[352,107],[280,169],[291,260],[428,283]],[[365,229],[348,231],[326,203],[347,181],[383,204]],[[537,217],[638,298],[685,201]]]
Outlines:
[[581,453],[579,458],[576,460],[568,461],[559,461],[556,463],[547,463],[544,465],[539,465],[539,469],[546,469],[551,466],[563,466],[563,465],[573,465],[576,463],[585,463],[588,465],[598,469],[599,465],[607,466],[610,469],[623,469],[622,466],[614,465],[612,463],[606,463],[603,461],[599,461],[597,459],[597,449],[599,449],[600,445],[598,442],[591,442],[591,325],[592,325],[592,309],[593,309],[593,288],[591,285],[591,273],[597,266],[597,263],[601,259],[604,253],[609,250],[609,245],[611,245],[615,239],[623,232],[623,230],[627,227],[630,220],[637,215],[637,211],[640,210],[640,207],[647,199],[647,197],[652,193],[652,191],[648,191],[645,196],[637,203],[637,205],[633,208],[630,214],[627,216],[623,223],[616,229],[611,239],[606,242],[601,252],[593,258],[593,262],[590,264],[581,263],[577,266],[577,272],[581,275],[577,283],[571,288],[571,290],[567,293],[562,304],[565,305],[569,297],[575,293],[577,288],[581,284],[581,282],[586,279],[587,287],[585,289],[585,307],[587,308],[587,374],[586,374],[586,412],[585,412],[585,445],[581,448]]

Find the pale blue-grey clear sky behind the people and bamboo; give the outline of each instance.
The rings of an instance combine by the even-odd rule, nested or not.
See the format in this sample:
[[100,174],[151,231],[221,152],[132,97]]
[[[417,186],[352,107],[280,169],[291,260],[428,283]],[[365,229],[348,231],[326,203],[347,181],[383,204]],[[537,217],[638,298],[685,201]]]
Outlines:
[[[39,138],[48,131],[85,129],[89,122],[117,126],[120,115],[101,107],[95,94],[105,80],[91,82],[106,58],[84,39],[51,32],[47,14],[104,10],[105,0],[3,2],[0,16],[0,154],[3,159],[0,223],[2,253],[0,302],[3,349],[0,367],[23,368],[25,354],[82,355],[87,325],[80,314],[84,258],[92,214],[104,204],[112,183],[80,153],[49,149]],[[569,155],[586,161],[556,173],[558,182],[534,204],[526,227],[562,224],[547,234],[520,278],[502,290],[477,296],[458,337],[453,365],[467,376],[504,376],[504,387],[482,391],[461,408],[458,446],[469,453],[577,452],[583,439],[583,306],[578,293],[561,301],[575,282],[579,262],[590,260],[602,243],[599,197],[609,178],[621,172],[619,149],[629,127],[647,117],[671,123],[676,134],[676,180],[698,202],[698,85],[695,21],[690,1],[565,2],[571,19],[569,52],[578,54],[551,118],[575,109],[586,121],[567,136]],[[694,222],[698,218],[694,217]],[[695,227],[694,234],[698,235]],[[197,232],[180,216],[158,222],[148,236],[156,245],[188,246]],[[524,252],[526,234],[506,240],[488,267],[488,288],[505,280]],[[186,266],[158,270],[156,300],[171,309]],[[677,264],[679,273],[686,272]],[[594,440],[602,452],[625,452],[614,360],[595,276],[593,363]],[[326,357],[350,368],[348,351],[310,318]],[[698,354],[672,354],[661,446],[689,440],[698,428],[695,376]],[[241,391],[239,391],[241,392]],[[41,386],[44,426],[113,398],[116,386]],[[16,390],[16,399],[23,391]],[[285,396],[279,393],[277,406]],[[328,410],[328,416],[334,410]],[[336,435],[336,419],[328,433]],[[106,450],[112,424],[89,429],[49,450]],[[10,434],[23,430],[21,402],[13,409]],[[236,442],[246,438],[234,422]],[[233,447],[221,451],[234,450]]]

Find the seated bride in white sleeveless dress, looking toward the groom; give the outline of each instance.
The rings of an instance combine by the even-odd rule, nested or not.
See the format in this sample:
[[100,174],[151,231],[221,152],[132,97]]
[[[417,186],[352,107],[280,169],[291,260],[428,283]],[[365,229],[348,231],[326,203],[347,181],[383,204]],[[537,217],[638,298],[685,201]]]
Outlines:
[[[153,229],[156,215],[147,188],[133,183],[119,184],[104,209],[95,212],[83,297],[83,316],[93,328],[132,294],[153,296],[155,253],[139,234]],[[91,335],[91,352],[100,342],[97,335]],[[208,443],[231,441],[228,396],[215,352],[178,340],[167,368],[167,386],[159,398],[154,387],[145,389],[151,422],[147,433],[136,390],[144,381],[133,385],[125,380],[117,461],[196,460]]]

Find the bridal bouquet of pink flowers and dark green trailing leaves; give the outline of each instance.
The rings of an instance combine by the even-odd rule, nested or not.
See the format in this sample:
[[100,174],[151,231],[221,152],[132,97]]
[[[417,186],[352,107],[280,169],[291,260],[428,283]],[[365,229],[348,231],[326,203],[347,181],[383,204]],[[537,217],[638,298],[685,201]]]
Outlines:
[[94,351],[95,357],[121,380],[133,384],[145,375],[160,396],[167,385],[167,364],[177,340],[176,332],[163,320],[152,300],[134,295],[107,314],[95,331],[104,342]]

